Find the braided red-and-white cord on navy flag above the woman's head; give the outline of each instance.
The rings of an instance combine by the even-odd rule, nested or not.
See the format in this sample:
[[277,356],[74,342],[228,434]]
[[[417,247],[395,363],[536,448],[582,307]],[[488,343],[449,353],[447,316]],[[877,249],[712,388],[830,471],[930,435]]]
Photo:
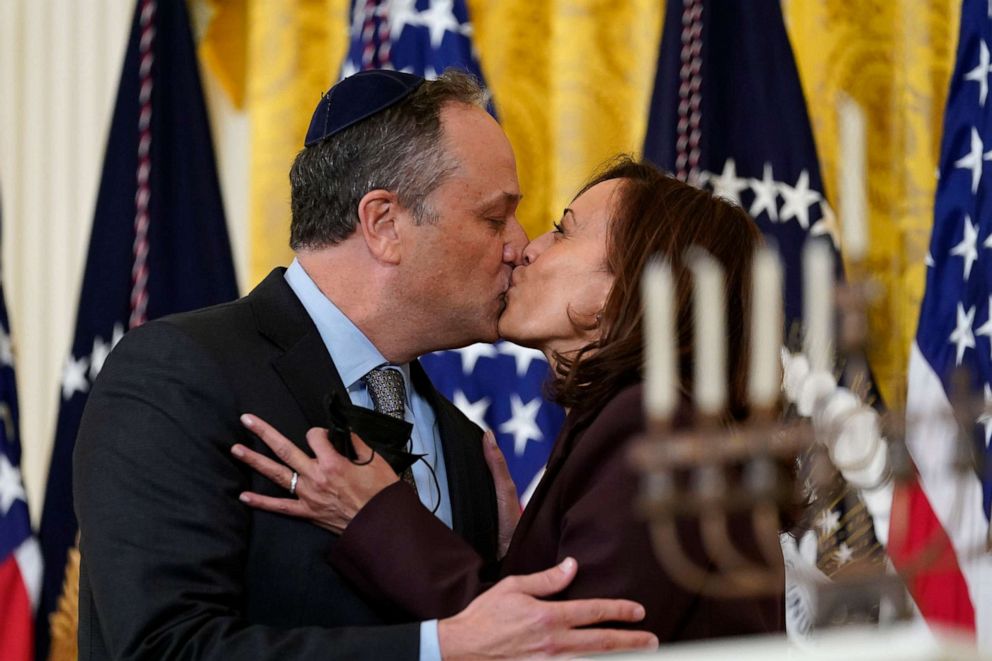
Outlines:
[[682,6],[682,66],[679,68],[679,120],[676,125],[675,176],[682,181],[699,178],[699,121],[702,117],[703,0]]

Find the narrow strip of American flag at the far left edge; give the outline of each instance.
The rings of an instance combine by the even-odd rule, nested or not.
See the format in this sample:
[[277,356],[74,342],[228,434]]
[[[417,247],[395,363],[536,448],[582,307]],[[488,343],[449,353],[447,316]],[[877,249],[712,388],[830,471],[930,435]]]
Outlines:
[[0,286],[0,659],[28,661],[34,658],[41,552],[31,533],[17,430],[14,356]]

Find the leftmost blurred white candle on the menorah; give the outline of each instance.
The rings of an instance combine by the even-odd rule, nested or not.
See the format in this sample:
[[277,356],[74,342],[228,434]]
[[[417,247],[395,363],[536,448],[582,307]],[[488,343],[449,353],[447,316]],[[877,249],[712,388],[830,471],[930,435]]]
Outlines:
[[678,398],[675,295],[667,260],[653,258],[641,277],[644,305],[644,410],[649,420],[667,421]]

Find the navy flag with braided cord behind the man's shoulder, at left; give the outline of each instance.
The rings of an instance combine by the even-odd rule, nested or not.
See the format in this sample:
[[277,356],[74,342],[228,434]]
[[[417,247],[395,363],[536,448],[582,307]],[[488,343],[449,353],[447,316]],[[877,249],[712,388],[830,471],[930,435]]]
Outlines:
[[90,386],[128,328],[237,295],[186,3],[136,0],[62,370],[39,531],[39,658],[47,658],[48,616],[75,544],[72,451]]

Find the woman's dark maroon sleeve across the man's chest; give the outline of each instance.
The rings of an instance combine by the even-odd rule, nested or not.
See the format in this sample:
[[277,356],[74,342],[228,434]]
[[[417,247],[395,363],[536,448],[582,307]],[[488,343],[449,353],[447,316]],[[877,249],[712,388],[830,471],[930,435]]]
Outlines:
[[401,481],[358,512],[330,562],[366,599],[424,620],[458,613],[498,572]]

